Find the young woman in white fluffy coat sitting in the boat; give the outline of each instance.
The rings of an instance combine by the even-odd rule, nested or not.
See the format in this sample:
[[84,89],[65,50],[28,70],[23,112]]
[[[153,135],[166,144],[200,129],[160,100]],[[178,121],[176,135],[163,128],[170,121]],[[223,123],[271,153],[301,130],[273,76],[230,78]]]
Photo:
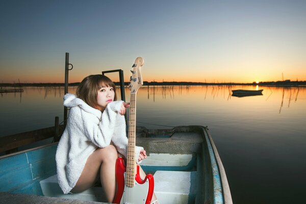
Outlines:
[[[107,202],[116,193],[115,164],[126,158],[127,138],[124,114],[130,104],[116,101],[115,84],[105,75],[89,75],[77,89],[66,94],[70,108],[66,129],[56,152],[58,182],[65,194],[82,192],[100,179]],[[136,146],[137,163],[146,158]],[[141,169],[141,177],[145,173]],[[156,200],[156,196],[152,197]]]

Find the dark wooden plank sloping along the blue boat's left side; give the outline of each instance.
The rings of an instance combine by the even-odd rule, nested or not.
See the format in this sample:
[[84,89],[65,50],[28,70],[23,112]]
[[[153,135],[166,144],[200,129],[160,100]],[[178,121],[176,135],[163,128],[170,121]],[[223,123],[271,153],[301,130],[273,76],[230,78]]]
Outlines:
[[[64,131],[63,125],[59,126],[59,135]],[[47,127],[35,131],[19,133],[0,137],[0,152],[8,151],[23,145],[54,137],[55,127]]]

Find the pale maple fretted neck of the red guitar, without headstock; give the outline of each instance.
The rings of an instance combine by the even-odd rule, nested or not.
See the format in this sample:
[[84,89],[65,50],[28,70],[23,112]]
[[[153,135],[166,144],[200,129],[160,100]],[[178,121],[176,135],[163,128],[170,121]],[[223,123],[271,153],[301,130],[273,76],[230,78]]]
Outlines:
[[136,93],[130,97],[130,118],[126,158],[126,186],[133,187],[136,175],[135,145],[136,145]]

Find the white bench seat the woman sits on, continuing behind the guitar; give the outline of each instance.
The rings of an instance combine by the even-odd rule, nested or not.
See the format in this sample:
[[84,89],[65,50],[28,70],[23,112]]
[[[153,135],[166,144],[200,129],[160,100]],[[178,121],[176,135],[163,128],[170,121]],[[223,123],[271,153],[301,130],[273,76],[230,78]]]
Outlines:
[[[160,203],[193,203],[197,186],[195,171],[156,171],[154,174],[154,191]],[[82,193],[63,194],[57,180],[57,174],[40,181],[44,196],[103,201],[101,187],[91,187]]]

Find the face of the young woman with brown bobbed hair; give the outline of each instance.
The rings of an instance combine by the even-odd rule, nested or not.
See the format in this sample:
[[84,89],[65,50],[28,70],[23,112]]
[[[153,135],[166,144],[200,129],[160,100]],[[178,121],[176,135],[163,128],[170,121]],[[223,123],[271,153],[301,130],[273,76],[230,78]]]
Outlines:
[[115,92],[113,87],[100,86],[97,95],[97,107],[96,109],[103,111],[106,106],[114,101]]

